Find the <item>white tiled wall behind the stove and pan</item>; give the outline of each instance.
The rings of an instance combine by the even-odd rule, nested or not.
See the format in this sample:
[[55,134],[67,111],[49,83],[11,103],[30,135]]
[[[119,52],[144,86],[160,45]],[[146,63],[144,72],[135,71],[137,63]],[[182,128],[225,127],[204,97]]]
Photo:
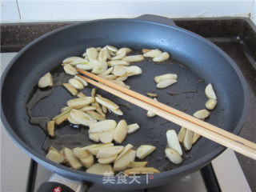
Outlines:
[[[134,18],[142,14],[158,14],[171,18],[191,17],[250,17],[255,0],[246,1],[44,1],[16,0],[21,18],[15,17],[17,6],[4,12],[2,22],[72,21],[98,18]],[[15,2],[3,0],[2,3]]]

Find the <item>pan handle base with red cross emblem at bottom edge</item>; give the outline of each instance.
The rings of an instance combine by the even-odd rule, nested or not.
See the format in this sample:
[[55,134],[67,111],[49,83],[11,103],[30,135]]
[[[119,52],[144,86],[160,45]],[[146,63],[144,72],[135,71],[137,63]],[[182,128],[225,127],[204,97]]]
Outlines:
[[86,192],[91,184],[65,178],[59,174],[52,174],[48,182],[43,182],[37,192],[65,191],[65,192]]

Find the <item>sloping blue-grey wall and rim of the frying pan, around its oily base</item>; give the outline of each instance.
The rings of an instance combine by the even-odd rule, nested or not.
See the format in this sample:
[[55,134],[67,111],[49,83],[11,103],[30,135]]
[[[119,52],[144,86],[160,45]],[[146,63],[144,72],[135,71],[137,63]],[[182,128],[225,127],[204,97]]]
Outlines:
[[[30,94],[35,91],[34,86],[37,84],[38,78],[54,69],[54,79],[57,78],[59,74],[56,67],[62,63],[64,58],[81,55],[90,46],[105,45],[126,46],[133,50],[158,48],[168,51],[172,59],[162,65],[156,65],[149,59],[132,64],[140,66],[143,73],[127,80],[126,83],[130,85],[131,89],[142,94],[155,90],[155,93],[158,94],[158,101],[193,114],[196,110],[205,108],[204,104],[207,99],[204,89],[208,83],[212,83],[217,93],[218,106],[211,111],[207,122],[234,134],[238,134],[242,129],[247,108],[246,82],[232,59],[217,46],[197,34],[175,26],[169,18],[154,15],[143,15],[134,19],[82,22],[54,30],[34,40],[17,54],[2,74],[2,122],[14,142],[46,169],[67,178],[102,185],[102,176],[100,175],[87,174],[82,170],[72,170],[45,158],[44,148],[50,144],[59,148],[62,144],[74,147],[94,143],[88,139],[87,134],[83,134],[81,137],[81,131],[86,133],[86,129],[84,127],[76,129],[70,125],[64,125],[57,130],[56,134],[60,137],[57,139],[58,142],[53,142],[46,138],[45,132],[39,126],[30,124],[26,103],[31,97]],[[178,73],[178,83],[165,90],[157,90],[154,76],[165,73]],[[62,76],[62,81],[66,81],[66,76]],[[170,91],[187,90],[197,90],[197,93],[174,96],[167,94]],[[85,93],[89,94],[90,88],[86,88]],[[165,158],[164,150],[166,148],[166,130],[174,129],[178,132],[179,126],[172,122],[165,122],[159,117],[146,118],[145,110],[131,104],[131,110],[128,110],[124,107],[127,104],[122,99],[115,98],[102,90],[98,90],[98,93],[116,103],[124,104],[121,105],[124,112],[123,117],[110,114],[107,118],[114,118],[117,121],[125,118],[128,124],[138,122],[141,127],[134,134],[128,135],[122,144],[131,143],[135,149],[142,144],[156,146],[157,150],[145,160],[149,161],[149,166],[162,170],[162,173],[154,174],[154,179],[147,184],[146,176],[141,176],[138,178],[140,184],[137,182],[132,182],[129,185],[106,183],[104,185],[106,187],[139,189],[164,185],[202,168],[225,149],[206,138],[200,138],[192,149],[186,152],[184,162],[175,166]],[[55,86],[54,93],[38,102],[34,106],[32,114],[53,117],[59,113],[59,110],[70,98],[72,96],[66,90],[61,86]],[[65,137],[63,134],[69,134],[69,137]],[[70,134],[73,135],[70,136]],[[48,144],[45,143],[46,139]],[[127,180],[130,179],[127,178]]]

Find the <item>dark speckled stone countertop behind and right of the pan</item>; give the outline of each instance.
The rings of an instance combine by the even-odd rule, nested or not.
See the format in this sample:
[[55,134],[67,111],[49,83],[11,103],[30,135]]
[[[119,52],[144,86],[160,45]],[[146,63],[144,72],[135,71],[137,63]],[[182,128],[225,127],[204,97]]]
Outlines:
[[[256,142],[256,26],[248,18],[179,18],[177,26],[214,42],[237,63],[248,85],[250,104],[240,136]],[[18,52],[35,38],[75,22],[12,23],[1,25],[1,52]],[[251,190],[256,190],[256,162],[236,154]],[[207,172],[207,171],[206,171]]]

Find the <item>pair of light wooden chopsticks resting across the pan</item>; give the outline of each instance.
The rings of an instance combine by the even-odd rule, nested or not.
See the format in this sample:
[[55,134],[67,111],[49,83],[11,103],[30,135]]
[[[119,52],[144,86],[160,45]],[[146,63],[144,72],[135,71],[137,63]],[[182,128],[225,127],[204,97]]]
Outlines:
[[102,90],[106,90],[110,94],[114,94],[127,102],[131,102],[136,106],[142,107],[145,110],[150,110],[154,114],[158,114],[158,116],[166,118],[166,120],[169,120],[170,122],[174,122],[179,126],[184,126],[186,129],[192,130],[194,133],[200,134],[205,138],[218,142],[222,146],[226,146],[240,154],[256,160],[256,144],[254,142],[250,142],[245,138],[231,134],[230,132],[222,130],[218,126],[211,125],[208,122],[203,122],[202,120],[194,118],[180,110],[166,106],[162,102],[154,101],[154,99],[138,94],[133,90],[128,90],[122,86],[118,86],[114,82],[110,82],[98,75],[91,74],[78,68],[76,68],[76,70],[78,70],[80,74],[85,74],[98,82],[78,74],[80,78],[83,78],[86,82],[89,82],[94,86],[98,86]]

